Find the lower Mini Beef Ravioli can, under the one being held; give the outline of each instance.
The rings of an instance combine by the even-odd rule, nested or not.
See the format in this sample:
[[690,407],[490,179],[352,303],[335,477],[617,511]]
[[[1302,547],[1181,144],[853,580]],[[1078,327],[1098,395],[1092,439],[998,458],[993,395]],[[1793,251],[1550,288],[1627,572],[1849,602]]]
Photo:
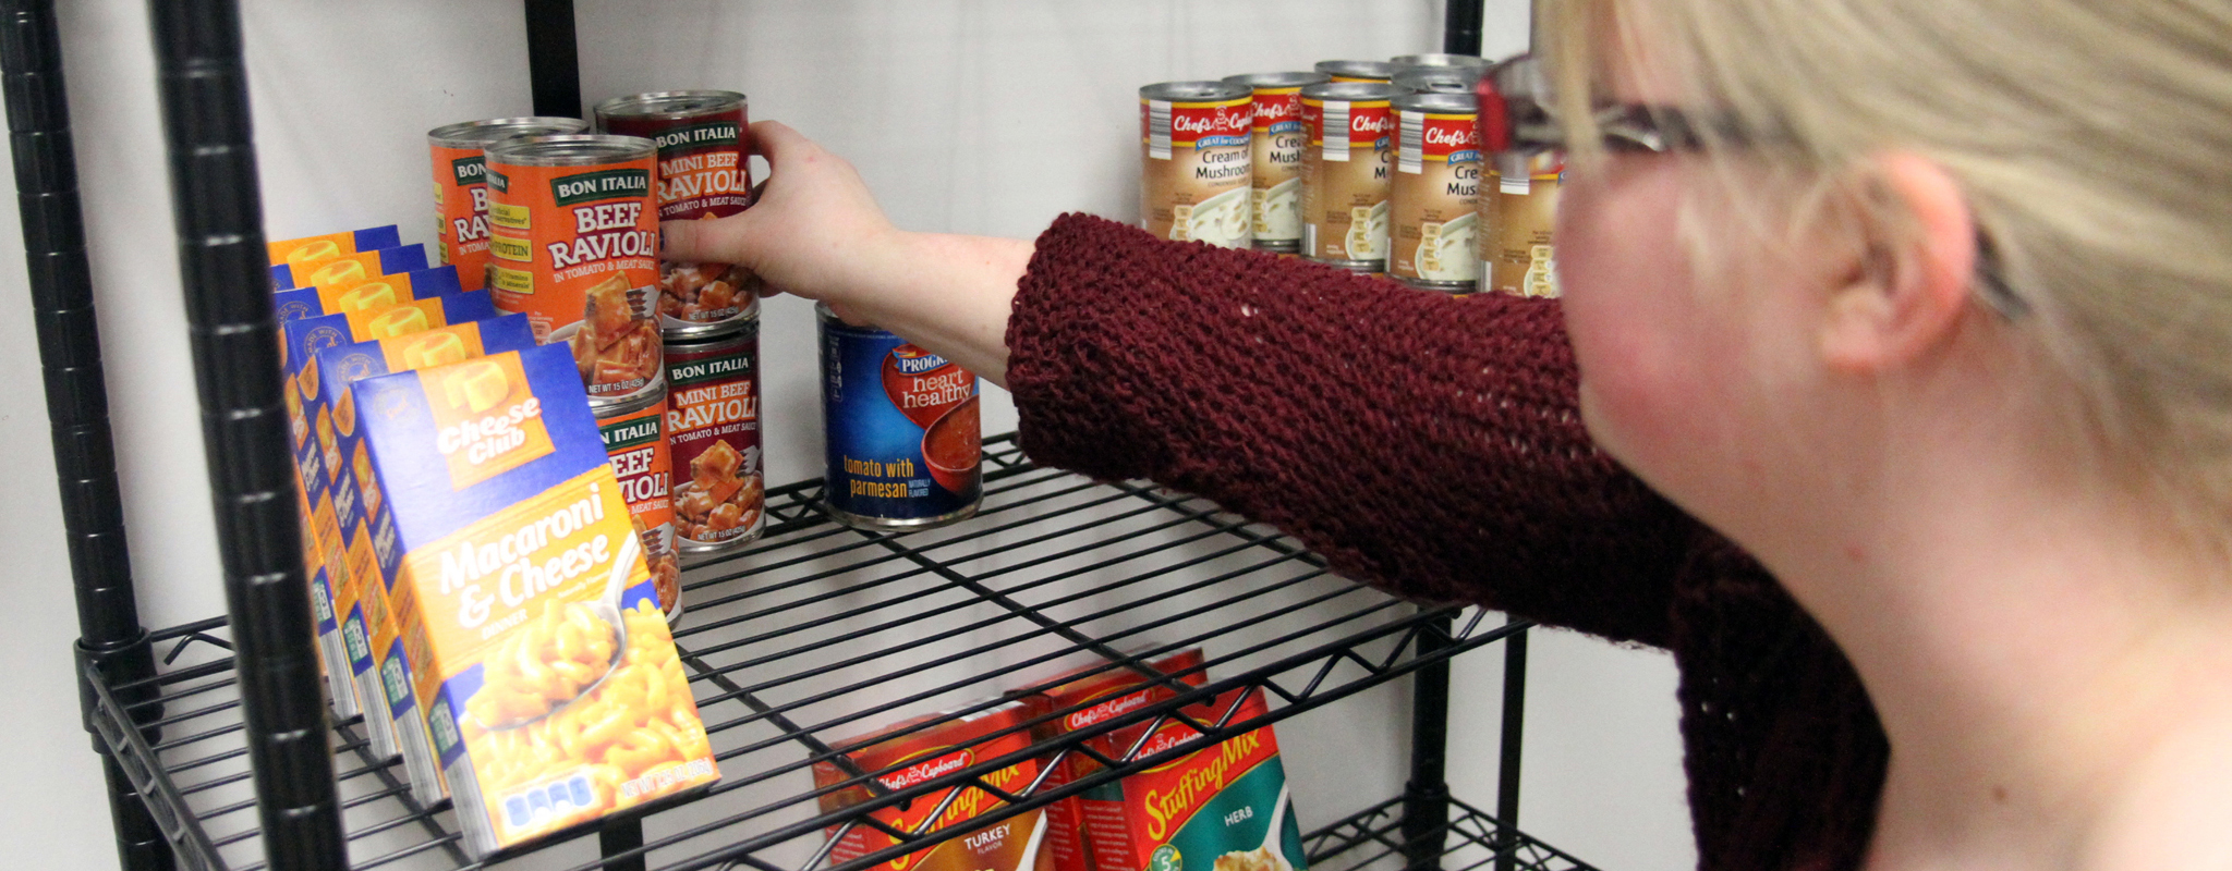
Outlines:
[[730,332],[667,343],[674,532],[687,555],[743,548],[768,528],[759,439],[759,301]]

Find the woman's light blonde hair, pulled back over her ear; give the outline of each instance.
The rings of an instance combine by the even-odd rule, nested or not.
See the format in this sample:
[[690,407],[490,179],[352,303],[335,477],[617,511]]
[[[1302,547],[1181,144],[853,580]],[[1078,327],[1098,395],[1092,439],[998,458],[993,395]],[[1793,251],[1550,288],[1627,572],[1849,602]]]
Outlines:
[[[1582,116],[1607,58],[1641,58],[1676,85],[1681,109],[1770,131],[1741,187],[1788,196],[1759,185],[1768,160],[1806,180],[1801,212],[1866,189],[1888,149],[1951,172],[2027,307],[2011,332],[2065,376],[2049,388],[2071,399],[2100,459],[2205,517],[2214,537],[2232,530],[2232,2],[1545,7],[1576,140],[1594,140]],[[1895,198],[1859,200],[1873,225],[1908,227]]]

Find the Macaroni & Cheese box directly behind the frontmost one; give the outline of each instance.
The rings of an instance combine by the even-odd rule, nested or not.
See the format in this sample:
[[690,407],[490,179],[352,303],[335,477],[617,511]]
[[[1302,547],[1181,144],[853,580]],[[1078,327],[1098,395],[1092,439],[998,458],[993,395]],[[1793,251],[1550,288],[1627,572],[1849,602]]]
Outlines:
[[[420,717],[417,697],[397,648],[402,633],[388,608],[388,590],[373,564],[371,512],[377,510],[382,495],[373,486],[371,457],[348,385],[388,372],[446,365],[533,345],[536,336],[527,319],[504,314],[393,339],[321,348],[312,359],[315,372],[321,372],[319,392],[304,405],[304,417],[312,421],[317,432],[312,450],[319,454],[317,466],[326,470],[326,492],[335,515],[330,528],[341,537],[344,552],[344,570],[328,572],[339,577],[337,584],[328,586],[337,615],[335,646],[344,655],[364,711],[391,722],[411,789],[429,802],[440,800],[444,789],[433,742],[426,735],[426,720]],[[319,639],[324,642],[324,637]]]

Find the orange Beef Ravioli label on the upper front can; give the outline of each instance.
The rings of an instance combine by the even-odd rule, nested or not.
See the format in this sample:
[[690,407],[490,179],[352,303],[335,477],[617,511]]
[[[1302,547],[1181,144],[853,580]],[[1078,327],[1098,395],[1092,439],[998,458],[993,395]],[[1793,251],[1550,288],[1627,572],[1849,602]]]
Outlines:
[[536,341],[567,343],[589,399],[658,388],[658,212],[652,158],[520,167],[489,160],[489,292]]

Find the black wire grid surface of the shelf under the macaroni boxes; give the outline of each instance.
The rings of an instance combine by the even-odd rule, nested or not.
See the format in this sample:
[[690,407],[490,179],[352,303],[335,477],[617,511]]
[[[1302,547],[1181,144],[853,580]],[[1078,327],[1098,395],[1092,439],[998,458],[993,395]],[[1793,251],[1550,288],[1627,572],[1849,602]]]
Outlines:
[[[1509,630],[1484,626],[1478,610],[1426,613],[1339,579],[1297,544],[1203,499],[1038,470],[1011,437],[987,439],[984,468],[987,501],[975,519],[906,537],[828,521],[819,481],[775,488],[761,541],[685,572],[687,613],[674,635],[723,780],[647,815],[638,858],[658,869],[817,867],[828,826],[911,800],[882,795],[826,813],[808,766],[830,757],[830,744],[924,713],[980,711],[1109,655],[1145,659],[1201,646],[1210,686],[1100,731],[1167,717],[1210,691],[1268,691],[1270,717],[1199,722],[1223,735]],[[1455,617],[1453,633],[1437,628],[1446,617]],[[263,849],[225,635],[223,619],[156,633],[165,708],[154,751],[223,864],[254,871]],[[1428,642],[1433,653],[1422,655]],[[1033,753],[1076,753],[1074,744]],[[411,802],[402,764],[368,755],[362,720],[337,724],[333,746],[357,869],[603,864],[598,840],[585,838],[596,831],[589,826],[542,842],[525,860],[469,862],[453,811]],[[1116,762],[1116,775],[1172,755],[1105,762]],[[933,780],[915,795],[982,784],[969,777],[1000,764]],[[1011,797],[1018,802],[1004,813],[1051,800]],[[913,833],[886,853],[951,833]]]

